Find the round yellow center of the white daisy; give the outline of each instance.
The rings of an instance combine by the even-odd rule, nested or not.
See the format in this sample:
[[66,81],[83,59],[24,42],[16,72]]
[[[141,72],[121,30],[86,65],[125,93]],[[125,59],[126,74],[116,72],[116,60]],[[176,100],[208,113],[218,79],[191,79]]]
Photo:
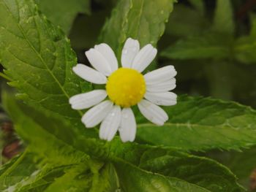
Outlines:
[[130,107],[143,99],[146,83],[143,75],[135,69],[119,68],[108,77],[106,90],[115,104]]

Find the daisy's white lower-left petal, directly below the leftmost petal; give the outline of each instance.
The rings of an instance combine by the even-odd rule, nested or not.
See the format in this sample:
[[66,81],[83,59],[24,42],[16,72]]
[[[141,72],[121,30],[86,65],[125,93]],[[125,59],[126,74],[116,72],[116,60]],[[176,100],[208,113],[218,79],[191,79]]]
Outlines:
[[92,107],[83,115],[82,122],[87,128],[97,126],[113,109],[113,102],[103,101],[100,104]]

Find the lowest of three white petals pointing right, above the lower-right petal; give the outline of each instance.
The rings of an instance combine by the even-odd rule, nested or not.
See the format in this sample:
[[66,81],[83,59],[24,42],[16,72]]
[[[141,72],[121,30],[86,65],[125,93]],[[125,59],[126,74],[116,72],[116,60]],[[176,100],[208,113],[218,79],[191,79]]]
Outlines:
[[172,92],[152,93],[146,92],[145,98],[157,105],[170,106],[177,103],[177,95]]

